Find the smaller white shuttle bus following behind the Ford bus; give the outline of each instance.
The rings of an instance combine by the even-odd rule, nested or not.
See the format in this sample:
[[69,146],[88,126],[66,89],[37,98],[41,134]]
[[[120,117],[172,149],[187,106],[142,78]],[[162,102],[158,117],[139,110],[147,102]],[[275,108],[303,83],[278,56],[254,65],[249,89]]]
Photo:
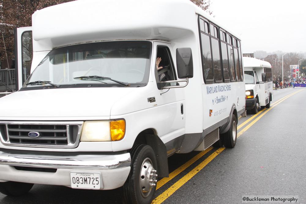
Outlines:
[[[257,113],[261,108],[270,108],[273,99],[272,67],[267,61],[243,57],[245,75],[245,106]],[[261,81],[259,81],[261,79]]]

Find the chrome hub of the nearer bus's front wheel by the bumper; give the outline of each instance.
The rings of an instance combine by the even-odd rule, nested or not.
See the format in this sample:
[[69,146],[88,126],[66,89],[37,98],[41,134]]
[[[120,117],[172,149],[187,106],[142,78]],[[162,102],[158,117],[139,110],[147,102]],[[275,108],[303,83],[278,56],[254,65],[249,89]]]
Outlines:
[[141,165],[139,181],[141,194],[144,198],[146,198],[152,188],[156,186],[156,178],[156,170],[153,168],[151,159],[145,158]]

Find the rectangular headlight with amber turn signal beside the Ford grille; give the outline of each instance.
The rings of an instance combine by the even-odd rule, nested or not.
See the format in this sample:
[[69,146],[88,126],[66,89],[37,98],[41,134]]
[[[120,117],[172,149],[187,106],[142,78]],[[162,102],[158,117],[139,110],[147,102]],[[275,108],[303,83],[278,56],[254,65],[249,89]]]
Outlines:
[[117,141],[125,135],[125,121],[85,121],[81,142]]

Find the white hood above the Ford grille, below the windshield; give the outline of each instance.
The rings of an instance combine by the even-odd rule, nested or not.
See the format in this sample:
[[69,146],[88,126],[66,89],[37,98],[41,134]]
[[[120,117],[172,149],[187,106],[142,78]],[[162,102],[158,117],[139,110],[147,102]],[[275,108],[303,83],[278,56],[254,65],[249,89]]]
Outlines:
[[108,120],[114,103],[135,88],[17,91],[0,98],[0,120]]

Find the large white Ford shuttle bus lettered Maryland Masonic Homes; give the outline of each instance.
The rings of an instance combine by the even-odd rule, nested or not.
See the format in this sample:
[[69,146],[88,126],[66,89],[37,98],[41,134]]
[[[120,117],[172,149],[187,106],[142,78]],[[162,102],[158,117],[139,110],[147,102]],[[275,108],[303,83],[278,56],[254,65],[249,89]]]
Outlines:
[[6,195],[122,187],[125,202],[150,203],[167,157],[236,144],[241,41],[189,0],[73,1],[36,11],[16,37],[33,53],[0,99]]

